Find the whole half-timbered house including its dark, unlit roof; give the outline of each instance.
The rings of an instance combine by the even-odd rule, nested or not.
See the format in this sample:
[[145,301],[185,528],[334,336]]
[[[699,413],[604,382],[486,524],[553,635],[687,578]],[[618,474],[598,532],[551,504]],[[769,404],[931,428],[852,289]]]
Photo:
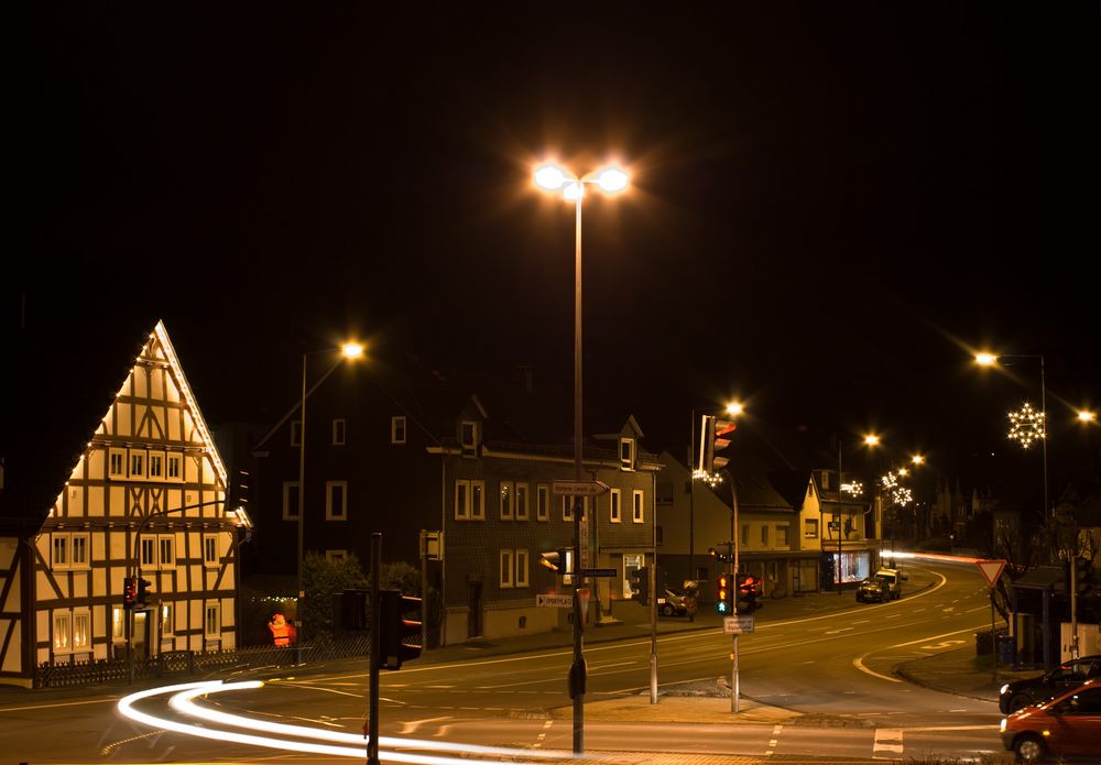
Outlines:
[[[14,349],[10,390],[24,397],[6,402],[22,411],[0,441],[8,684],[43,664],[236,646],[240,520],[164,324],[63,350],[70,339],[28,334]],[[148,592],[127,608],[131,576]]]

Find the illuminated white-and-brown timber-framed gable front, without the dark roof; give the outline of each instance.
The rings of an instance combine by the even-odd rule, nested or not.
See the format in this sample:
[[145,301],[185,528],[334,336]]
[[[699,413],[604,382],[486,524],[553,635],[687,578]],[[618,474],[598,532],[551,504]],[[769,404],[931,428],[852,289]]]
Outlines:
[[117,655],[123,580],[139,568],[150,582],[148,608],[134,612],[143,654],[235,648],[237,517],[226,488],[159,321],[39,533],[0,538],[0,682],[26,685],[43,663]]

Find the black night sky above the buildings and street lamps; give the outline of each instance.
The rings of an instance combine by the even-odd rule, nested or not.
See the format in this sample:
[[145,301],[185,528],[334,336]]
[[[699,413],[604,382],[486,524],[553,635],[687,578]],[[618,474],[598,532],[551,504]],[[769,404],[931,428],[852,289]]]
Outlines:
[[985,347],[1045,357],[1077,462],[1101,13],[1004,4],[34,3],[4,321],[19,296],[59,329],[162,316],[214,423],[277,416],[302,351],[349,334],[568,383],[573,208],[531,171],[615,157],[631,193],[585,209],[586,394],[651,448],[739,396],[1013,469],[1038,362],[979,374]]

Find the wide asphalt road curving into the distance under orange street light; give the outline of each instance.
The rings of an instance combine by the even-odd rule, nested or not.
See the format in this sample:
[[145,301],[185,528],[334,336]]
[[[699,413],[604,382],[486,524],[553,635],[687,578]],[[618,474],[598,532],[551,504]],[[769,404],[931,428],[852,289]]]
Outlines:
[[[682,762],[691,755],[753,762],[1000,752],[994,704],[914,687],[891,674],[902,662],[959,647],[989,625],[984,583],[973,570],[956,567],[914,564],[909,576],[900,601],[857,604],[847,595],[851,608],[805,614],[796,609],[784,619],[760,619],[752,634],[739,638],[741,703],[753,710],[739,724],[731,724],[729,698],[673,695],[715,689],[719,678],[729,682],[732,637],[718,629],[661,637],[663,695],[656,706],[648,703],[650,640],[587,646],[586,752],[634,753],[617,754],[615,762],[634,762],[644,753],[671,753]],[[404,736],[408,750],[465,742],[568,752],[570,660],[570,649],[553,648],[384,673],[381,732]],[[364,662],[362,671],[288,676],[260,688],[211,693],[199,700],[201,707],[239,718],[204,721],[198,729],[192,717],[168,707],[167,693],[134,703],[167,722],[124,718],[116,710],[118,697],[107,695],[35,697],[42,700],[22,709],[0,708],[0,724],[10,742],[4,748],[28,753],[21,755],[28,763],[258,762],[273,755],[348,762],[342,753],[356,758],[363,751],[367,685]],[[242,719],[302,725],[345,740],[307,745],[303,731],[246,731]],[[178,732],[164,730],[173,724],[182,726]],[[261,735],[271,740],[235,740]],[[384,745],[384,761],[388,752]],[[455,755],[464,762],[482,756],[469,750],[434,753]],[[654,762],[656,755],[646,756]]]

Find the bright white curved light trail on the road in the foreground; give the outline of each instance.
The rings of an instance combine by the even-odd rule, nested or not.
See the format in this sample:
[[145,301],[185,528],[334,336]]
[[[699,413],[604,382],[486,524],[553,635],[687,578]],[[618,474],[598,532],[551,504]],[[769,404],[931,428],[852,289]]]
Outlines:
[[[308,728],[305,725],[292,725],[288,723],[253,720],[239,714],[231,714],[228,712],[208,709],[195,703],[195,699],[200,696],[205,697],[211,693],[231,690],[251,690],[261,688],[263,685],[264,684],[259,680],[247,680],[241,682],[222,682],[220,680],[214,680],[203,682],[185,682],[176,686],[152,688],[127,696],[119,701],[118,710],[121,714],[137,722],[166,731],[173,731],[175,733],[182,733],[184,735],[212,739],[216,741],[232,741],[235,743],[247,744],[250,746],[262,746],[282,751],[328,754],[339,757],[357,757],[362,759],[367,756],[367,742],[362,735],[357,733],[341,733],[338,731]],[[168,693],[172,695],[168,704],[182,714],[230,728],[291,737],[273,737],[269,735],[258,735],[257,733],[238,733],[233,731],[203,728],[199,725],[156,717],[148,712],[142,712],[134,706],[139,701]],[[298,741],[297,739],[303,741]],[[482,758],[508,757],[510,761],[516,762],[522,762],[524,759],[562,759],[569,756],[566,752],[549,750],[481,746],[478,744],[459,744],[425,739],[404,739],[394,736],[379,736],[379,747],[380,758],[389,762],[411,763],[413,765],[470,765],[471,756]],[[383,750],[382,747],[389,748]],[[453,757],[393,751],[396,748],[437,752],[447,751],[454,752],[459,756]]]

